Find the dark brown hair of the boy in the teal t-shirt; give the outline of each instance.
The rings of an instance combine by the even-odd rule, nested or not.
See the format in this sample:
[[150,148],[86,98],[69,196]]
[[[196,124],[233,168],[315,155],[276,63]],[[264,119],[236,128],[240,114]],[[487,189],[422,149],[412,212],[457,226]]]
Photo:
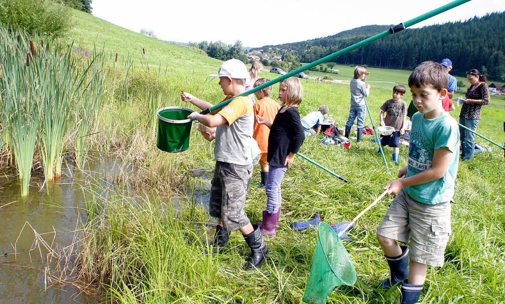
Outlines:
[[449,74],[444,67],[434,61],[425,61],[409,76],[409,87],[420,88],[427,85],[433,86],[439,92],[449,86]]

